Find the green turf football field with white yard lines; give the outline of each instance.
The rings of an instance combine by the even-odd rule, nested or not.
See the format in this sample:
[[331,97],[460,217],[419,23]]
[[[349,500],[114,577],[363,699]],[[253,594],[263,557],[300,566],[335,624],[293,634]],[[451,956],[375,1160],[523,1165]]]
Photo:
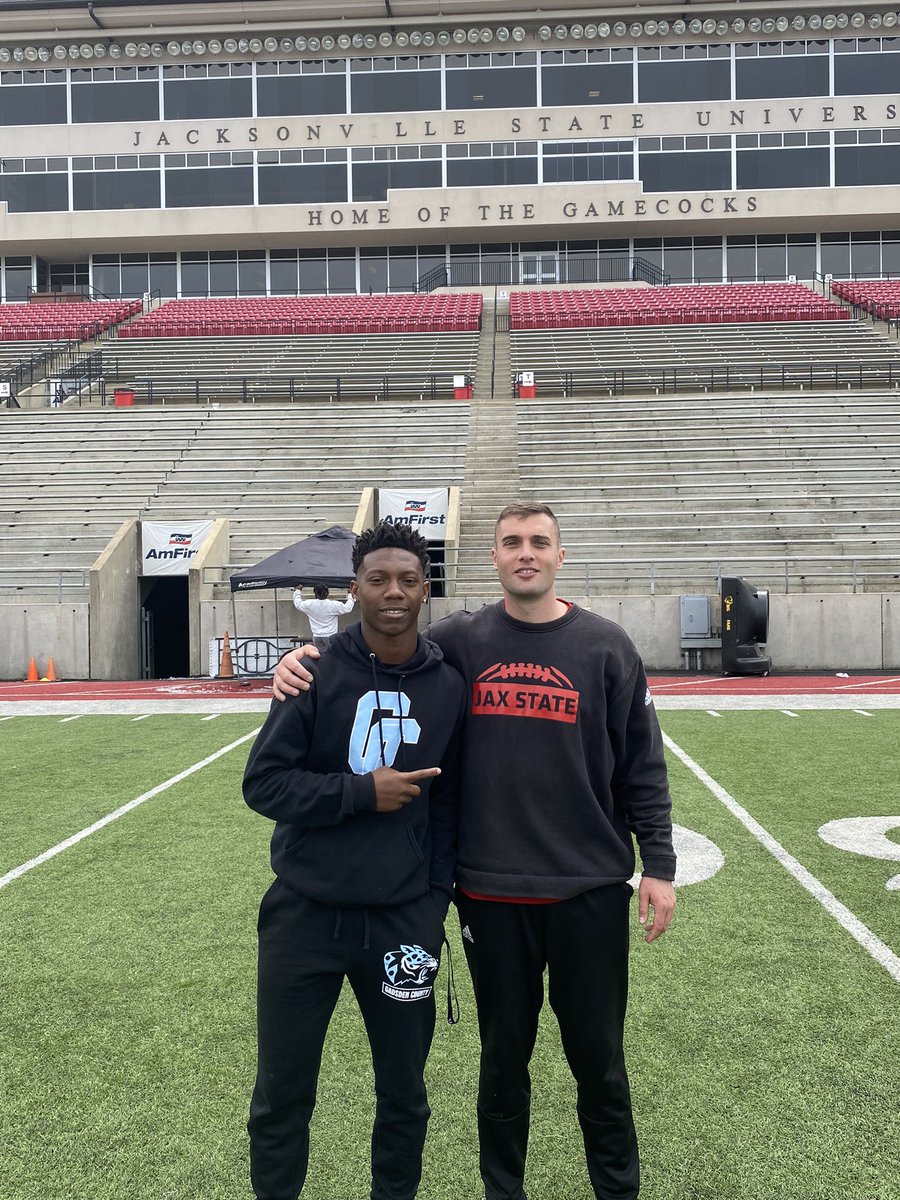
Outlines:
[[[646,1200],[900,1200],[900,709],[660,713],[679,893],[634,912]],[[259,713],[0,720],[0,1200],[250,1200]],[[107,820],[108,818],[108,820]],[[80,834],[80,836],[78,836]],[[479,1200],[475,1012],[442,1020],[424,1200]],[[589,953],[589,947],[586,947]],[[530,1200],[590,1200],[552,1015]],[[308,1200],[366,1200],[367,1046],[344,995]]]

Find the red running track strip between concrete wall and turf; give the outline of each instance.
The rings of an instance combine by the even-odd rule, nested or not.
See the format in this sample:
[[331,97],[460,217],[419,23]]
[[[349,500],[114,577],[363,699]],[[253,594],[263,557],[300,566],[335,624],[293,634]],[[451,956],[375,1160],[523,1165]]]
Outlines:
[[[655,696],[900,696],[900,672],[882,674],[752,676],[652,674]],[[271,695],[268,679],[71,680],[2,683],[0,701],[17,700],[244,700]]]

